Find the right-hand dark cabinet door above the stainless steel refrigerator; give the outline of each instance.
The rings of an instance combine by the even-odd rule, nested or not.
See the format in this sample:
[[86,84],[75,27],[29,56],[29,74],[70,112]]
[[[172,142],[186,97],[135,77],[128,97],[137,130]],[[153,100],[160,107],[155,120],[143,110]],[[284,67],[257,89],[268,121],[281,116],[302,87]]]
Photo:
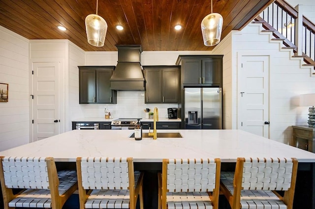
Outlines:
[[222,65],[221,59],[202,60],[203,84],[221,84]]

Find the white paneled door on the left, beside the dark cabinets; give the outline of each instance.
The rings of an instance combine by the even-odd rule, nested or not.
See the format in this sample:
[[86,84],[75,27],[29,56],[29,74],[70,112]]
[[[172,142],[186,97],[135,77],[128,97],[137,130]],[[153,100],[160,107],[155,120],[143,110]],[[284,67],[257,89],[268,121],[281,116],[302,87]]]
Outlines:
[[33,62],[33,141],[60,133],[60,62]]

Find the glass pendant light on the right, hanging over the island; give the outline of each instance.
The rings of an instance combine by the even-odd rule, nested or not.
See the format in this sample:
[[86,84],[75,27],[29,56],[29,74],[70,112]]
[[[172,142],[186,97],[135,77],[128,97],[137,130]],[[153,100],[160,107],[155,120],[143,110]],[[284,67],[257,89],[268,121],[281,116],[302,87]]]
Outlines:
[[211,0],[211,14],[201,21],[201,32],[205,46],[214,46],[221,40],[223,18],[219,13],[213,13]]

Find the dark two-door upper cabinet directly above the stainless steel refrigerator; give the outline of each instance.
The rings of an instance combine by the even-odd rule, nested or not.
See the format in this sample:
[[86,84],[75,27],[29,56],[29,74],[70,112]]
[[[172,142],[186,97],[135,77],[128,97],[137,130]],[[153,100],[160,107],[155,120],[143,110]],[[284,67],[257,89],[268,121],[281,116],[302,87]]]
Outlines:
[[222,57],[222,55],[179,56],[176,64],[182,65],[183,85],[221,87]]

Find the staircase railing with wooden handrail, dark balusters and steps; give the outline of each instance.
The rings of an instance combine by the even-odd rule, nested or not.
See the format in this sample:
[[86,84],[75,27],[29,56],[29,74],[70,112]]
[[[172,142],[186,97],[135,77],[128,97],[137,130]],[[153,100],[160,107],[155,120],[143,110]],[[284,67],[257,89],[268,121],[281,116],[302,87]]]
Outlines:
[[275,0],[252,23],[262,24],[272,32],[272,40],[283,41],[283,48],[293,49],[293,57],[303,58],[304,66],[314,66],[315,76],[315,25],[284,0]]

